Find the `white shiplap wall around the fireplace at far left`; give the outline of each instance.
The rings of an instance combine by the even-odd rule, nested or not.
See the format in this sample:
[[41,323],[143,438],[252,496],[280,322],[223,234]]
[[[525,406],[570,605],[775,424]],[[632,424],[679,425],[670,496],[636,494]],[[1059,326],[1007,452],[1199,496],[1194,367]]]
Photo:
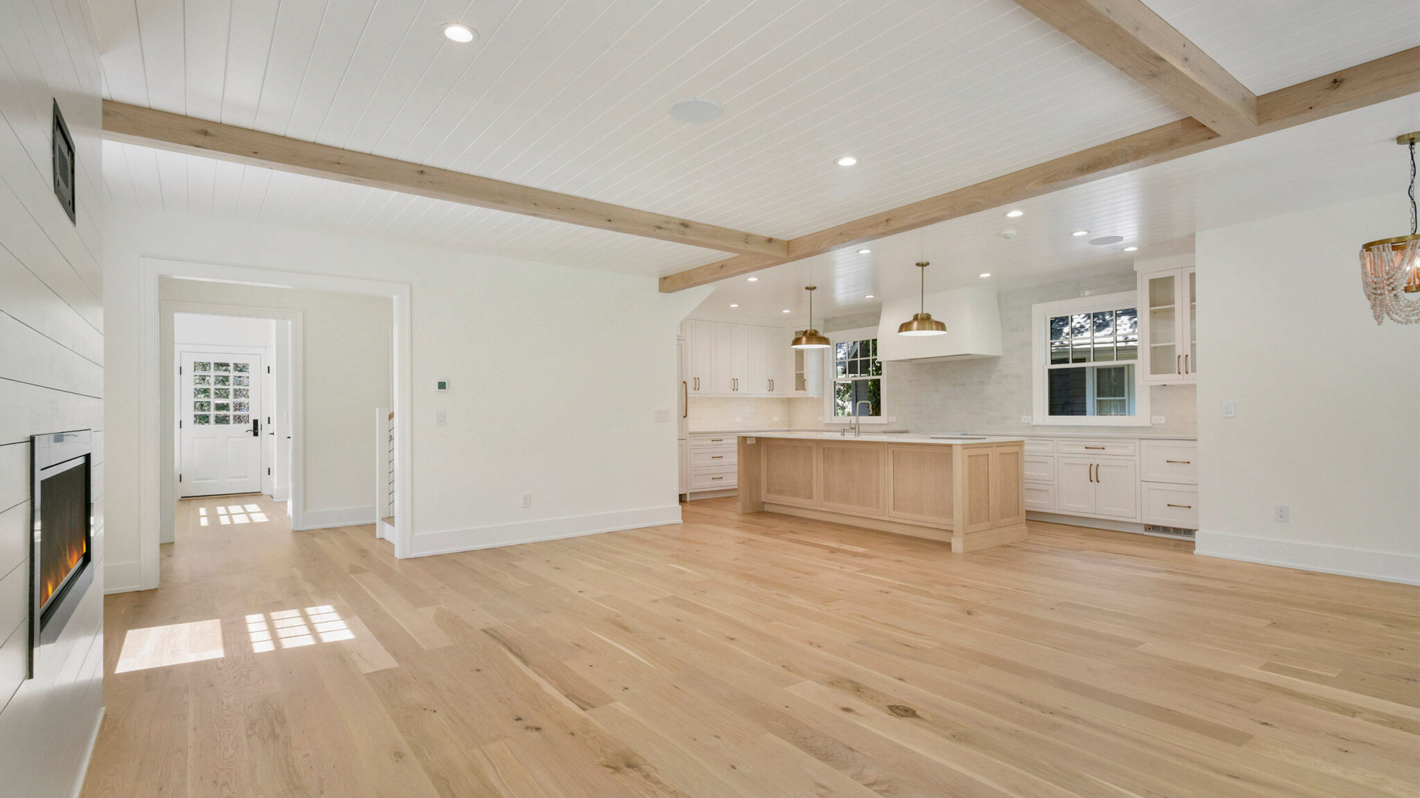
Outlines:
[[[99,65],[77,0],[0,4],[0,794],[71,795],[102,701],[104,311]],[[78,224],[53,193],[51,104],[74,138]],[[30,436],[94,434],[94,582],[26,680]],[[72,596],[71,596],[72,598]]]

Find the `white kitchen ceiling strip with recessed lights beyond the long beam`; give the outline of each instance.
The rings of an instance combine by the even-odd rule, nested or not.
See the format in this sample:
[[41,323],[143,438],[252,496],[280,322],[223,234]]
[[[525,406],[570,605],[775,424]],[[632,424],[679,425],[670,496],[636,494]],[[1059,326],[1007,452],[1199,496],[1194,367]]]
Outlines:
[[[929,293],[981,284],[1011,288],[1190,253],[1189,239],[1203,229],[1377,195],[1394,197],[1402,209],[1410,163],[1396,136],[1417,129],[1420,95],[1392,99],[1032,197],[1010,206],[1025,212],[1018,219],[1007,219],[1004,207],[987,210],[879,239],[866,244],[872,248],[866,256],[839,250],[758,271],[754,283],[724,280],[697,315],[805,325],[804,285],[818,285],[814,318],[819,322],[825,315],[873,311],[885,298],[917,294],[917,260],[932,263]],[[1003,239],[1003,230],[1015,236]],[[1089,230],[1089,236],[1075,237],[1075,230]],[[1123,241],[1089,244],[1102,236]],[[1139,251],[1123,251],[1129,246]],[[983,280],[981,273],[991,277]],[[792,312],[784,314],[785,308]]]

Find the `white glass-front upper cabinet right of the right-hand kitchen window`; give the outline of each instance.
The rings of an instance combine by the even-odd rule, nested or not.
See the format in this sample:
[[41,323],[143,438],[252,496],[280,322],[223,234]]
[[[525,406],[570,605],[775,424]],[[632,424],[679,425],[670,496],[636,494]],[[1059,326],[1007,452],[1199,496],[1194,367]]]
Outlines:
[[1198,291],[1194,268],[1139,273],[1139,344],[1143,382],[1177,385],[1198,379]]

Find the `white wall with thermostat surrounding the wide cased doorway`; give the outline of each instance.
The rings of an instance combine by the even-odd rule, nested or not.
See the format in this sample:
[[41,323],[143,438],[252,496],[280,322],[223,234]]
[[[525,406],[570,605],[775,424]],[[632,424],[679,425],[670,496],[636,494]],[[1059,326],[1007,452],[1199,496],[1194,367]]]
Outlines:
[[[108,354],[124,375],[108,398],[112,452],[131,456],[139,444],[141,257],[403,281],[416,554],[679,521],[676,425],[653,412],[673,417],[676,329],[709,290],[663,295],[648,277],[108,210]],[[439,379],[447,393],[435,392]],[[149,521],[138,474],[112,483],[111,559],[133,559]],[[523,493],[532,494],[528,510]]]

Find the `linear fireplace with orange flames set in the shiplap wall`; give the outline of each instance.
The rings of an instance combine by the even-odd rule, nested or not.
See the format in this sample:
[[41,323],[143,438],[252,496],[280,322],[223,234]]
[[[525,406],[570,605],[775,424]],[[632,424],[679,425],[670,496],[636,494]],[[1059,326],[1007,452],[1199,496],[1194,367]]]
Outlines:
[[92,430],[30,437],[30,677],[36,650],[58,639],[94,581]]

